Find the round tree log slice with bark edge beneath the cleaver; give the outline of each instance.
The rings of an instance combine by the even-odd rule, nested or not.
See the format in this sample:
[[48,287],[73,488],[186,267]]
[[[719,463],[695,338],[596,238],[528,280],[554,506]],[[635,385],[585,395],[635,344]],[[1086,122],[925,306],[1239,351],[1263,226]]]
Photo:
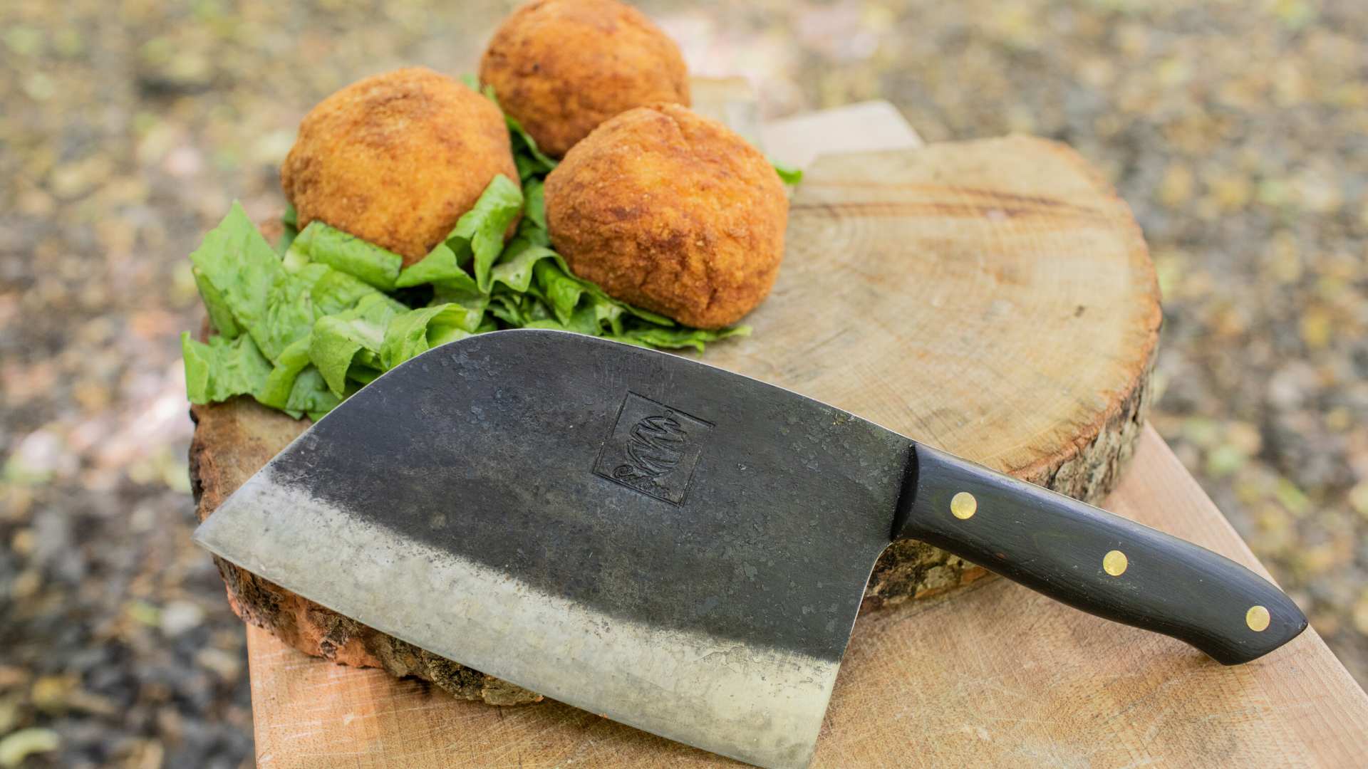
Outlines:
[[[833,155],[796,190],[787,252],[750,338],[706,363],[850,410],[1089,502],[1118,480],[1149,408],[1159,290],[1129,208],[1064,145],[1026,137]],[[308,427],[250,398],[194,406],[200,520]],[[341,664],[458,696],[539,699],[219,561],[244,620]],[[988,576],[891,546],[862,610]]]

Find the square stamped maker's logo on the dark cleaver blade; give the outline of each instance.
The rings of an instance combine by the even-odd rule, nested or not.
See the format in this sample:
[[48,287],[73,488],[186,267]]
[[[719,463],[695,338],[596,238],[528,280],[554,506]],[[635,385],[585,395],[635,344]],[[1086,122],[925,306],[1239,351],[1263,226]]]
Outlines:
[[628,393],[594,473],[679,505],[711,431],[702,419]]

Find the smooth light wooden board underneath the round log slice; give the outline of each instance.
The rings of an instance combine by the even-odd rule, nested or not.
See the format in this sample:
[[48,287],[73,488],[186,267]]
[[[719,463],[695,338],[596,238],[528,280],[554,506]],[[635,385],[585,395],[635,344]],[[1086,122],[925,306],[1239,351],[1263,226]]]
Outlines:
[[[1267,575],[1152,430],[1107,509]],[[249,628],[257,765],[741,766],[575,707],[492,707]],[[1313,629],[1224,668],[1005,580],[855,623],[814,769],[1363,766],[1368,695]]]

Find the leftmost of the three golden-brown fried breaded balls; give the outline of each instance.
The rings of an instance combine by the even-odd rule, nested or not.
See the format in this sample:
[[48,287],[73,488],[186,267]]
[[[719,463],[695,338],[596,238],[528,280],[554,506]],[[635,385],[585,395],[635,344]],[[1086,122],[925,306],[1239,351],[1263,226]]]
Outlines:
[[518,178],[499,108],[460,81],[412,67],[357,81],[315,107],[280,186],[301,229],[321,220],[409,267],[498,174]]

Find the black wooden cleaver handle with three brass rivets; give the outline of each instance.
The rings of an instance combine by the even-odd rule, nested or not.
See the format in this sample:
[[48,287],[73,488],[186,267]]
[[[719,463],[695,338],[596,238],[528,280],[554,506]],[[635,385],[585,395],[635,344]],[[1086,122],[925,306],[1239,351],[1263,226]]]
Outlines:
[[1048,488],[915,445],[893,539],[919,539],[1055,601],[1187,642],[1223,665],[1306,617],[1245,566]]

